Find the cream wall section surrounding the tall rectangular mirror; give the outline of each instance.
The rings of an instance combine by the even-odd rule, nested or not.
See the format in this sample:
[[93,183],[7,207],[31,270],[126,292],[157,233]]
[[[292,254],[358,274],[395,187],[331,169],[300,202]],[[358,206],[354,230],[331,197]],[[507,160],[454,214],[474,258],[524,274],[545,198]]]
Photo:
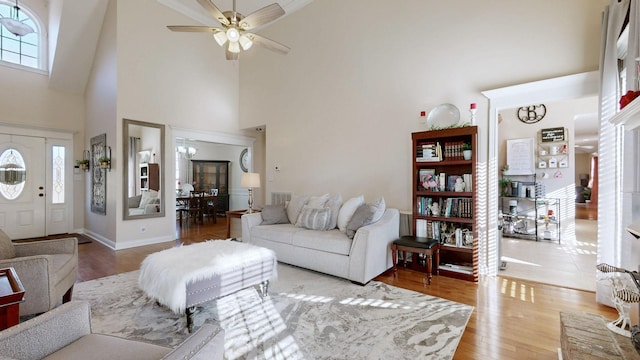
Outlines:
[[[113,1],[113,0],[112,0]],[[117,0],[117,154],[122,119],[167,125],[163,159],[173,159],[173,127],[241,133],[238,129],[238,64],[225,60],[210,34],[175,33],[167,25],[193,24],[154,0]],[[172,161],[165,162],[165,191],[174,189]],[[120,179],[122,164],[111,176]],[[174,202],[164,218],[122,220],[122,181],[116,184],[116,248],[175,239]],[[113,240],[113,239],[112,239]]]

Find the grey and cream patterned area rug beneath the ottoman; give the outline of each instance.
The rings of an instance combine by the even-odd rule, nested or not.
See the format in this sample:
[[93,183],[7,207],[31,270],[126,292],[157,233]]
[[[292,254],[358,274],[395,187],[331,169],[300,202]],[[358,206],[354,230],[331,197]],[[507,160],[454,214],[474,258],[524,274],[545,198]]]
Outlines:
[[[147,298],[138,271],[76,284],[97,333],[174,347],[186,317]],[[278,264],[262,299],[249,288],[199,308],[225,330],[226,359],[451,359],[473,307],[371,281],[366,286]]]

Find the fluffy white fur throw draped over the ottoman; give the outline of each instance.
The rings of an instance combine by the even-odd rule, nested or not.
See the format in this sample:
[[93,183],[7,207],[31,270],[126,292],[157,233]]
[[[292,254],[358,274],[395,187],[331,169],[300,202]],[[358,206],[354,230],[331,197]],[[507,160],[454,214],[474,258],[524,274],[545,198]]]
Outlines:
[[231,240],[209,240],[147,256],[140,266],[138,284],[149,297],[182,314],[188,283],[240,270],[265,258],[273,259],[273,280],[277,259],[272,250]]

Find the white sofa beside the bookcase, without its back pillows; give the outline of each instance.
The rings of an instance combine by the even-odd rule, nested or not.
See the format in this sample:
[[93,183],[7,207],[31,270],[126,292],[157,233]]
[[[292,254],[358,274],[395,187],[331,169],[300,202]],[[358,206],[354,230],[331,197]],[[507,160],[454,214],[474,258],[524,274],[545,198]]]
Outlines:
[[261,214],[253,213],[242,216],[242,241],[275,251],[278,261],[366,284],[393,266],[390,245],[398,239],[399,222],[398,209],[387,208],[349,239],[337,228],[261,225]]

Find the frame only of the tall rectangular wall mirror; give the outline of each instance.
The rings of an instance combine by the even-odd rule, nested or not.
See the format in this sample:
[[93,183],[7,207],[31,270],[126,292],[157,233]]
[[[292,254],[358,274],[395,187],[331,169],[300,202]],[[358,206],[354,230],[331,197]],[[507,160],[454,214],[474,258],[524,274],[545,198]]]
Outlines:
[[[145,121],[139,120],[131,120],[123,118],[122,123],[122,216],[124,220],[137,220],[137,219],[148,219],[148,218],[156,218],[156,217],[164,217],[165,215],[165,182],[164,182],[164,167],[166,166],[166,161],[164,160],[164,143],[165,143],[165,131],[164,124],[155,124],[149,123]],[[128,154],[129,154],[129,125],[137,125],[150,127],[160,130],[160,212],[155,214],[142,214],[142,215],[129,215],[129,194],[127,193],[127,189],[129,188],[129,166],[128,166]],[[163,165],[164,164],[164,165]]]

